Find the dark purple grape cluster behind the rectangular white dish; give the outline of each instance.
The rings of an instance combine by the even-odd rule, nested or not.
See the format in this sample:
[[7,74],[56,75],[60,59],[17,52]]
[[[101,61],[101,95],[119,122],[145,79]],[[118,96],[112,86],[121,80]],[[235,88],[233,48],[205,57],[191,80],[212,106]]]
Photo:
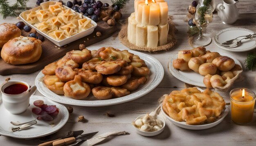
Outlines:
[[103,5],[101,1],[96,2],[95,0],[84,0],[84,2],[81,0],[74,0],[73,2],[67,2],[67,7],[70,7],[79,13],[83,13],[84,16],[90,16],[95,22],[99,20],[99,16],[101,15],[101,7],[103,6],[108,7],[109,4],[105,3]]

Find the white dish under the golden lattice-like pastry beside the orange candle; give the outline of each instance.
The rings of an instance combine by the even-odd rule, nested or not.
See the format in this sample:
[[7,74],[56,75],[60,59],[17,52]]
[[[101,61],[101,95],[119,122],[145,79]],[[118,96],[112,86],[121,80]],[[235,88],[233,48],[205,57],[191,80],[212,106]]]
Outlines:
[[190,130],[202,130],[202,129],[208,129],[208,128],[212,128],[218,124],[220,124],[220,122],[223,121],[223,119],[227,116],[227,114],[229,113],[229,108],[228,106],[225,106],[224,111],[222,111],[222,114],[220,115],[220,117],[213,123],[209,123],[209,124],[202,124],[202,125],[189,125],[186,124],[186,122],[178,122],[176,120],[174,120],[173,118],[169,117],[163,110],[163,106],[161,104],[161,110],[162,113],[164,114],[164,116],[170,120],[174,125],[179,126],[181,128],[185,128],[185,129],[190,129]]

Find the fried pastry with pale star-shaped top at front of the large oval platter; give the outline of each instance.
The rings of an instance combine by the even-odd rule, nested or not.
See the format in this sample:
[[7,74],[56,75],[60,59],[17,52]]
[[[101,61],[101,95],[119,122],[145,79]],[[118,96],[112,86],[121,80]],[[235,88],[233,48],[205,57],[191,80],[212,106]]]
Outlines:
[[71,97],[76,100],[82,100],[88,97],[91,92],[90,86],[82,82],[79,75],[76,75],[74,80],[66,82],[63,90],[66,97]]

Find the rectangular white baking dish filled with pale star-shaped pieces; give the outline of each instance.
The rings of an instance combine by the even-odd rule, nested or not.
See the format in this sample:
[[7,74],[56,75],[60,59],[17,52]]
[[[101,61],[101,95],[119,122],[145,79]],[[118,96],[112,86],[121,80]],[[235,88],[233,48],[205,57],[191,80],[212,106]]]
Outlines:
[[[49,4],[49,5],[52,5],[52,4],[55,4],[55,3],[56,3],[56,2],[48,1],[48,2],[43,2],[43,3],[41,3],[41,4]],[[68,43],[70,43],[70,42],[74,42],[75,40],[78,40],[78,39],[83,38],[83,37],[85,37],[85,36],[87,36],[87,35],[90,35],[91,33],[93,33],[94,29],[97,27],[97,23],[92,20],[92,21],[91,21],[91,24],[93,25],[93,27],[91,27],[91,28],[89,28],[89,29],[87,29],[87,30],[85,30],[85,31],[82,31],[82,32],[80,32],[80,33],[76,33],[75,35],[72,35],[72,36],[70,36],[69,38],[65,38],[65,39],[60,40],[60,41],[55,40],[54,38],[50,37],[50,36],[47,35],[46,33],[40,31],[39,29],[37,29],[37,28],[34,26],[34,24],[30,24],[29,22],[27,22],[27,21],[25,20],[25,18],[23,17],[24,14],[30,13],[30,11],[36,11],[36,10],[38,10],[38,9],[42,9],[41,4],[40,4],[40,6],[38,6],[38,7],[35,7],[35,8],[33,8],[33,9],[30,9],[30,10],[27,10],[27,11],[24,11],[24,12],[20,13],[20,18],[21,18],[29,27],[32,27],[33,29],[36,29],[36,31],[37,31],[38,33],[40,33],[40,35],[43,35],[45,38],[47,38],[48,40],[50,40],[51,42],[53,42],[53,43],[56,44],[57,46],[64,46],[65,44],[68,44]],[[66,9],[70,9],[69,7],[65,6],[64,4],[63,4],[63,7],[65,7]],[[74,11],[73,9],[70,9],[70,10],[71,10],[72,12],[76,13],[76,14],[79,14],[78,12]],[[85,17],[84,15],[82,15],[82,18],[86,18],[86,19],[91,20],[90,18]]]

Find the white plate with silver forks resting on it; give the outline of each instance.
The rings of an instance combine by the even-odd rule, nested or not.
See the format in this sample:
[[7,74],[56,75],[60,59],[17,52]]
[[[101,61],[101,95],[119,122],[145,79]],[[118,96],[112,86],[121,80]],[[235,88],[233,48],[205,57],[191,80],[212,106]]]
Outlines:
[[241,41],[242,44],[235,48],[227,48],[220,44],[222,44],[223,42],[225,42],[227,40],[231,40],[231,39],[237,38],[239,36],[249,35],[249,34],[252,35],[252,34],[254,34],[254,32],[249,29],[241,29],[241,28],[222,29],[215,35],[214,42],[216,43],[217,46],[219,46],[220,48],[227,50],[227,51],[245,52],[245,51],[249,51],[249,50],[256,48],[256,38],[252,38],[249,40],[244,39]]

